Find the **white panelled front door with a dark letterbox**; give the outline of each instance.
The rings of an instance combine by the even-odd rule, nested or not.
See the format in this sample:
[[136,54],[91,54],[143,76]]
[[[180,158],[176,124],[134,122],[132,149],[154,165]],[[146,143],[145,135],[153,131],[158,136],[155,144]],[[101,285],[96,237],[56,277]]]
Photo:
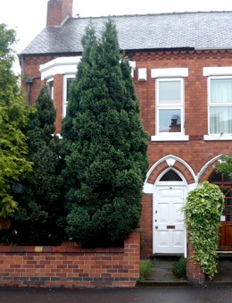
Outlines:
[[153,253],[185,253],[185,214],[180,210],[185,197],[185,186],[156,187],[153,201]]

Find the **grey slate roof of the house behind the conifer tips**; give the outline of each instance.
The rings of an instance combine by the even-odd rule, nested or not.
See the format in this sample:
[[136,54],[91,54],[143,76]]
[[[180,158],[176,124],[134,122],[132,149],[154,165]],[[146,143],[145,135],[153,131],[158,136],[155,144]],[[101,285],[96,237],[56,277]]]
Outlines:
[[[107,18],[70,18],[62,26],[47,27],[21,54],[79,53],[89,20],[100,32]],[[232,48],[232,12],[122,15],[112,16],[112,20],[123,50]]]

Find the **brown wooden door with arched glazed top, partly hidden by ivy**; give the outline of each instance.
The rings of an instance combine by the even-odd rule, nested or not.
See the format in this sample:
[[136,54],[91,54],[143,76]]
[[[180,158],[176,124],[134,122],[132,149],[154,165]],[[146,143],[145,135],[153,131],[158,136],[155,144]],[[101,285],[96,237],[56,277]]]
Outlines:
[[220,186],[225,196],[225,207],[220,218],[219,250],[232,251],[232,181],[226,173],[213,173],[209,181]]

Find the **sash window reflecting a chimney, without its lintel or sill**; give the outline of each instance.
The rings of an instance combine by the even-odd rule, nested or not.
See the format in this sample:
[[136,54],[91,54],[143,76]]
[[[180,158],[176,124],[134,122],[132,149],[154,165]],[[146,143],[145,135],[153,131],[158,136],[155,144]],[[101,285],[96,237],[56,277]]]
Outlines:
[[184,133],[183,79],[156,80],[156,134]]

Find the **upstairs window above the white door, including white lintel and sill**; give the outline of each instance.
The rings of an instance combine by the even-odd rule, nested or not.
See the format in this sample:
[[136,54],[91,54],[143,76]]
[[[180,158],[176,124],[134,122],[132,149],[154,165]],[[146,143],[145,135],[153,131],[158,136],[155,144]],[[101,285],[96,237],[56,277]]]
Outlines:
[[152,141],[187,141],[184,118],[184,81],[188,68],[152,69],[155,78],[155,136]]

